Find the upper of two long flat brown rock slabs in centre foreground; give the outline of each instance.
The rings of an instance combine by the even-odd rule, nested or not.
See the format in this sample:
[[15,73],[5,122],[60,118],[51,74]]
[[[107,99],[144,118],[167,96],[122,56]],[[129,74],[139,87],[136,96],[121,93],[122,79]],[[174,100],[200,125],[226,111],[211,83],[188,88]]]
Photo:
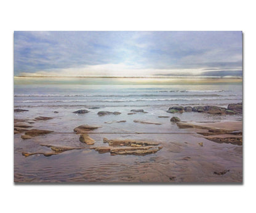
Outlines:
[[158,142],[151,142],[151,141],[136,141],[132,139],[112,139],[109,140],[106,137],[103,138],[104,143],[108,143],[108,145],[113,145],[113,146],[119,146],[120,144],[126,145],[126,146],[131,146],[131,144],[137,144],[137,145],[159,145]]

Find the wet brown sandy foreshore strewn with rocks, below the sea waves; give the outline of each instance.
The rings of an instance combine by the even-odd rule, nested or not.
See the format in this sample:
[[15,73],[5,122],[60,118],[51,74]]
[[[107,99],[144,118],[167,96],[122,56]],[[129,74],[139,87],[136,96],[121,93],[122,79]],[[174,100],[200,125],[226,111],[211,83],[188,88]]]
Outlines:
[[[97,108],[34,117],[15,109],[14,181],[242,182],[241,114]],[[74,117],[68,125],[64,115]]]

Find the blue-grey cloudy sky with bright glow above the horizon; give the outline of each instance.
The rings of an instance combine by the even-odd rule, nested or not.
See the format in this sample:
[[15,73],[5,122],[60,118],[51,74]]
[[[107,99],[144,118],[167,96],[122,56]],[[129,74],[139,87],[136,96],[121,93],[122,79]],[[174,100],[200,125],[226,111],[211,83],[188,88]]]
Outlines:
[[15,31],[15,76],[242,76],[241,31]]

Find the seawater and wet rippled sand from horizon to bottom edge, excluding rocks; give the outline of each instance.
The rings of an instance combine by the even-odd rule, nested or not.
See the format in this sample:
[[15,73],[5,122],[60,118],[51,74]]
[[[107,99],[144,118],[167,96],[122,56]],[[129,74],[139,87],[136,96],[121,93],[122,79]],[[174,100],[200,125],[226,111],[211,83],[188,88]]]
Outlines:
[[[14,180],[168,182],[169,177],[175,176],[179,182],[240,181],[242,159],[241,153],[236,154],[238,151],[234,145],[216,144],[198,134],[188,134],[188,130],[179,129],[170,122],[170,117],[177,116],[184,122],[222,122],[241,121],[242,115],[169,114],[166,111],[171,106],[227,107],[230,103],[241,102],[242,82],[237,79],[14,79],[14,109],[28,110],[14,112],[14,118],[33,120],[38,116],[52,117],[51,120],[36,121],[31,125],[54,131],[28,140],[21,139],[20,133],[14,135]],[[91,107],[100,109],[89,109]],[[79,109],[90,112],[81,115],[73,113]],[[132,109],[143,109],[148,113],[127,115]],[[121,114],[98,116],[100,110]],[[126,122],[111,123],[120,120]],[[135,123],[134,120],[161,125]],[[107,137],[158,141],[164,148],[146,156],[99,154],[87,149],[86,144],[79,142],[79,135],[74,134],[73,129],[84,124],[101,126],[90,134],[95,139],[95,146],[106,145],[103,144],[103,137]],[[204,142],[204,152],[198,142]],[[86,149],[70,150],[51,157],[33,155],[25,158],[22,155],[22,152],[50,152],[50,148],[43,146],[46,144]],[[194,159],[190,169],[186,169],[186,162],[178,160],[186,156]],[[225,179],[215,177],[211,170],[231,166],[238,168],[238,171],[230,172]]]

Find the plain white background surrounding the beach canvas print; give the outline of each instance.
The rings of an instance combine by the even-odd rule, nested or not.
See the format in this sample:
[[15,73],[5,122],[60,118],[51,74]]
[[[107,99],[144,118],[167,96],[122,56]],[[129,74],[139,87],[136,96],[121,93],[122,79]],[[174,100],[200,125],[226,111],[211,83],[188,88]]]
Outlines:
[[[93,3],[92,3],[93,2]],[[1,1],[1,212],[254,212],[254,1]],[[13,173],[13,32],[239,30],[244,37],[244,183],[23,185]]]

